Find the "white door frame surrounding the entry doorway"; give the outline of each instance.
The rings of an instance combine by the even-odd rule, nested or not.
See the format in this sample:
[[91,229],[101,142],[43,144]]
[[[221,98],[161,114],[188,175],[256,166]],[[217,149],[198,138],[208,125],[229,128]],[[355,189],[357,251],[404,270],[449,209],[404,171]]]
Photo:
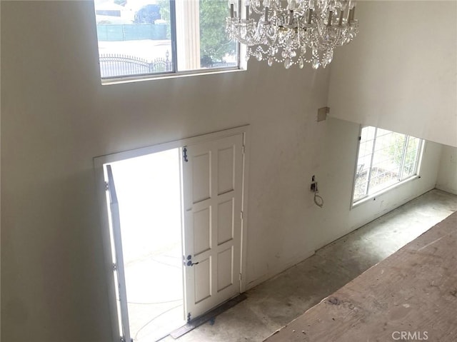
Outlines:
[[179,139],[176,141],[169,141],[162,144],[153,146],[141,147],[139,149],[132,149],[129,151],[121,151],[104,156],[94,157],[94,171],[96,177],[96,201],[99,206],[100,213],[100,229],[101,239],[104,248],[104,266],[106,273],[106,290],[109,296],[109,308],[111,327],[113,333],[113,341],[119,342],[119,337],[122,336],[122,331],[119,330],[118,308],[116,304],[116,288],[114,286],[114,270],[113,270],[113,251],[111,251],[111,236],[109,232],[109,218],[108,207],[106,205],[106,187],[104,178],[104,165],[122,161],[125,159],[136,158],[139,156],[146,156],[156,152],[166,151],[169,149],[182,149],[184,146],[199,144],[206,141],[213,141],[227,136],[243,134],[243,176],[242,176],[242,193],[241,193],[241,210],[243,211],[243,218],[241,220],[241,279],[240,279],[240,293],[246,291],[246,239],[247,239],[247,223],[248,223],[248,175],[249,175],[249,135],[250,126],[238,126],[233,129],[225,129],[223,131],[216,131],[209,134],[199,136],[191,136],[189,138]]

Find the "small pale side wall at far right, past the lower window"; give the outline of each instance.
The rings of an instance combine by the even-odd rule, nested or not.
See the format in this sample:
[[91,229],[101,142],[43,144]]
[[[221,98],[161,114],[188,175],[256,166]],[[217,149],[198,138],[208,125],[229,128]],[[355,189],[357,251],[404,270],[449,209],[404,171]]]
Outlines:
[[436,188],[457,195],[457,148],[443,146]]

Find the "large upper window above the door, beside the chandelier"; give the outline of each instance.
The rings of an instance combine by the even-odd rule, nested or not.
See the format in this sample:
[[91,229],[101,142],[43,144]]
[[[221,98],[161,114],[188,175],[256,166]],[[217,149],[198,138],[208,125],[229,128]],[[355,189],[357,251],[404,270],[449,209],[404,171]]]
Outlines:
[[226,0],[95,0],[102,79],[238,69]]

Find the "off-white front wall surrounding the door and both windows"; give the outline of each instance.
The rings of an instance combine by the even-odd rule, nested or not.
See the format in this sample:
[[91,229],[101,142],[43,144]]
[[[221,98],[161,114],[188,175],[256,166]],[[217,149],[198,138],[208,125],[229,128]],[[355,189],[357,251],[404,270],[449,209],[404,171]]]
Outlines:
[[250,124],[250,286],[433,187],[430,144],[428,176],[349,211],[358,126],[316,122],[328,84],[253,62],[101,86],[91,1],[1,1],[2,340],[111,341],[94,156]]

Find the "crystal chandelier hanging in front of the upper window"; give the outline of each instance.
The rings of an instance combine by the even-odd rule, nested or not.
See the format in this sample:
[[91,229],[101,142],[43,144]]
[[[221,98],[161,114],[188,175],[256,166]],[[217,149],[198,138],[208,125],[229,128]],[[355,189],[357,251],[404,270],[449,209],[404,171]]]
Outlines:
[[325,68],[333,50],[358,33],[353,0],[244,0],[243,18],[236,13],[237,2],[229,0],[226,32],[246,45],[246,61],[253,56],[268,66]]

